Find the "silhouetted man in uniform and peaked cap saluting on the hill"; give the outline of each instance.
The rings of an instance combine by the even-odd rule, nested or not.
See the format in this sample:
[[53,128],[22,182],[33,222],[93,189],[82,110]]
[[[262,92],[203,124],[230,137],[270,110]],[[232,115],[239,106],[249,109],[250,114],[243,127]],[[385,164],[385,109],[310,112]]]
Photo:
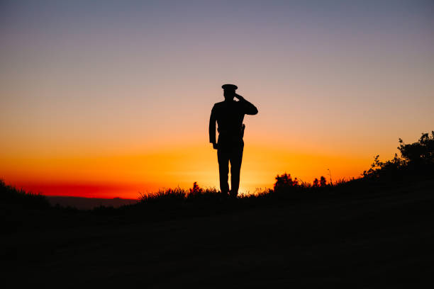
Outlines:
[[[225,101],[214,104],[209,119],[209,142],[217,149],[220,190],[223,195],[236,197],[240,186],[240,169],[244,148],[244,115],[257,114],[257,108],[235,93],[238,89],[233,84],[221,86]],[[233,98],[238,98],[234,101]],[[216,142],[216,121],[218,124],[218,142]],[[229,191],[228,174],[230,162]]]

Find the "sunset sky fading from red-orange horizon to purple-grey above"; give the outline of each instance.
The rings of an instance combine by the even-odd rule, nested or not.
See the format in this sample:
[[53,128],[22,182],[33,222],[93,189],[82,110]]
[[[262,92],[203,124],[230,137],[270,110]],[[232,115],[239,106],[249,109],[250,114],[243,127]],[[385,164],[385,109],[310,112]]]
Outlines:
[[434,130],[433,1],[1,1],[0,178],[47,195],[218,186],[221,85],[240,191],[360,176]]

